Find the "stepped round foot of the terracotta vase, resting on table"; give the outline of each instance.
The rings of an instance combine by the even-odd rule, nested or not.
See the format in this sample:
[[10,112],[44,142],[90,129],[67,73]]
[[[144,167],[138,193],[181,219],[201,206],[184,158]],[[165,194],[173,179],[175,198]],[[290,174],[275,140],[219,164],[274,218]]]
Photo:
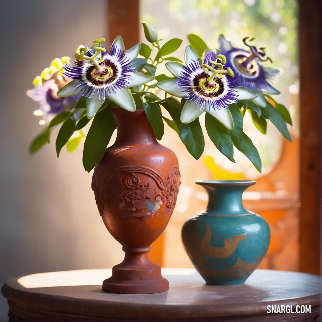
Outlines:
[[112,276],[103,281],[102,290],[119,294],[152,294],[169,289],[169,282],[161,275],[160,266],[149,263],[143,267],[113,267]]

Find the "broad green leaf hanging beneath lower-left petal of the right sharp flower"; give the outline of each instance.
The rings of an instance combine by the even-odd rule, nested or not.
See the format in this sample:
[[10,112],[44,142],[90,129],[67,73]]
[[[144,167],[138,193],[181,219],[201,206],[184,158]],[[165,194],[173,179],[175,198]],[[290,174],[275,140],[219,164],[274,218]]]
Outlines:
[[175,121],[181,141],[184,143],[188,152],[198,160],[204,152],[204,134],[199,123],[199,118],[196,118],[191,123],[181,123],[180,120]]

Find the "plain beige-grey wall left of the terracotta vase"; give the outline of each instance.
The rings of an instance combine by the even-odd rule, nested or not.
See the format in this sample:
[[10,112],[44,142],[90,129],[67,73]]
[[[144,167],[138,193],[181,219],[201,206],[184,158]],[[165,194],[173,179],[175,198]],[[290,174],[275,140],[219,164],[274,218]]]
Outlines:
[[[27,152],[41,126],[25,91],[52,58],[72,56],[79,44],[106,35],[105,3],[1,1],[1,285],[36,272],[112,267],[123,258],[99,217],[82,148],[74,154],[63,148],[59,160],[54,144],[33,157]],[[1,297],[1,321],[6,314]]]

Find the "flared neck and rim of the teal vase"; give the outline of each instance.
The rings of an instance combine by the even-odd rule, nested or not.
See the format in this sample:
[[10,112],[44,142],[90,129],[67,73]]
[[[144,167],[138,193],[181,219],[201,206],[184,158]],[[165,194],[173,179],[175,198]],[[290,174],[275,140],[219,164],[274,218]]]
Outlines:
[[242,204],[242,194],[255,181],[198,181],[209,195],[207,213],[240,215],[250,213]]

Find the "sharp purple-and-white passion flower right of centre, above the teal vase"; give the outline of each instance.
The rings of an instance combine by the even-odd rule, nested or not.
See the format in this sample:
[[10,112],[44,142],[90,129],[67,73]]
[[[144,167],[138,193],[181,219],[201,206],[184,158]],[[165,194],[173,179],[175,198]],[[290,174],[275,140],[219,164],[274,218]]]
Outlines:
[[190,123],[204,111],[233,129],[229,105],[239,100],[253,99],[258,94],[237,85],[232,71],[224,69],[224,57],[208,52],[203,64],[191,46],[185,50],[185,65],[167,62],[167,69],[175,78],[157,83],[167,93],[185,98],[180,120]]

